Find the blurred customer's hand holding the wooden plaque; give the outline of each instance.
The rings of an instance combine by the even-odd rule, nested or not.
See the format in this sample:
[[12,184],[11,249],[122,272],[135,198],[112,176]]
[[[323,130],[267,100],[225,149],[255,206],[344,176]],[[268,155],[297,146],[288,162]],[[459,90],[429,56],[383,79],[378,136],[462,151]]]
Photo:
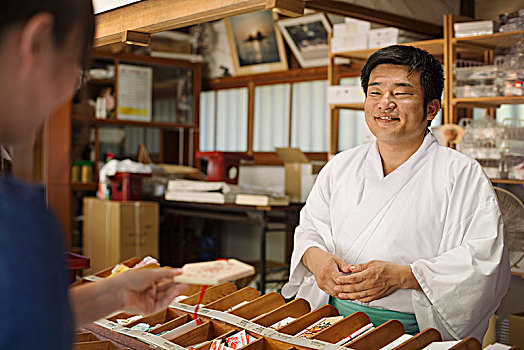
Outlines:
[[147,315],[166,307],[188,286],[173,282],[181,269],[146,268],[128,270],[113,277],[120,309]]

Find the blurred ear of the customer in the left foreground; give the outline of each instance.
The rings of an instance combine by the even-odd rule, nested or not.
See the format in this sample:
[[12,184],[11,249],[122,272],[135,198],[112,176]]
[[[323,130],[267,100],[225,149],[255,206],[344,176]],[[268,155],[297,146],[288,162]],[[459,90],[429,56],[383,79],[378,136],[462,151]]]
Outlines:
[[53,26],[53,16],[47,12],[31,17],[23,25],[18,46],[23,63],[33,63],[42,50],[53,42]]

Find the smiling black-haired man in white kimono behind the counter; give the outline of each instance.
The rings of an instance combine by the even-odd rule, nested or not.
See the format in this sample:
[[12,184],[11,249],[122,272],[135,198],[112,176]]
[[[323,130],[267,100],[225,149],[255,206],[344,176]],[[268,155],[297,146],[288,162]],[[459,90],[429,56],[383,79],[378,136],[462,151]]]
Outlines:
[[482,340],[510,270],[491,183],[473,159],[427,130],[444,75],[426,51],[391,46],[361,74],[372,143],[321,171],[295,232],[282,294],[342,315],[395,318],[406,332]]

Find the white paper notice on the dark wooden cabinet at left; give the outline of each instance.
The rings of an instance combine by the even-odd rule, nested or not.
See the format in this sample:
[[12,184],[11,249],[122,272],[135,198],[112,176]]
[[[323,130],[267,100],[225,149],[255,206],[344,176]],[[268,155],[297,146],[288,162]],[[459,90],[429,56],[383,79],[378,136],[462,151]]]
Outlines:
[[153,68],[118,65],[117,119],[151,121]]

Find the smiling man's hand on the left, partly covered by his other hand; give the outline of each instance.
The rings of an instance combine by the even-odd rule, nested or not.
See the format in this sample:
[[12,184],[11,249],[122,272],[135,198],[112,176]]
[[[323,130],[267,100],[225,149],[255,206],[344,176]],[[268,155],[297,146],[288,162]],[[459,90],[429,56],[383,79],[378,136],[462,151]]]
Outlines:
[[348,264],[338,256],[317,247],[306,250],[302,256],[302,263],[315,276],[320,289],[331,296],[337,296],[334,289],[337,285],[337,278],[342,276],[341,271],[349,273]]

